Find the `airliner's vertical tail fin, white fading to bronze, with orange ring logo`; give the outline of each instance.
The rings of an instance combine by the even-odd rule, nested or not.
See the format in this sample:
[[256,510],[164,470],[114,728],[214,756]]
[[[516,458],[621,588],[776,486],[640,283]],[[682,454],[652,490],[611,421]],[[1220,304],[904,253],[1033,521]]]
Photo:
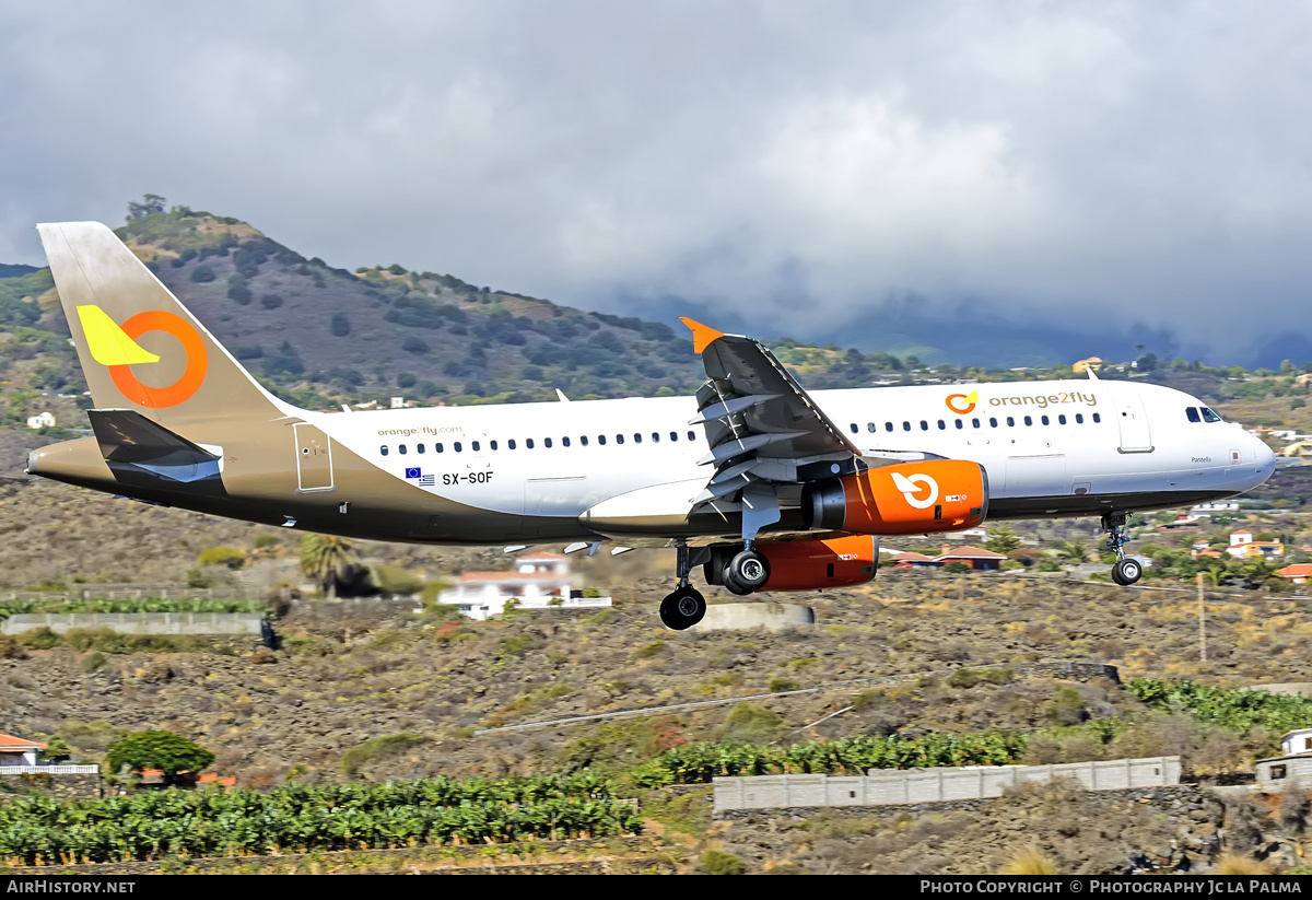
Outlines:
[[106,226],[63,222],[37,230],[98,408],[140,411],[169,426],[269,419],[290,409]]

